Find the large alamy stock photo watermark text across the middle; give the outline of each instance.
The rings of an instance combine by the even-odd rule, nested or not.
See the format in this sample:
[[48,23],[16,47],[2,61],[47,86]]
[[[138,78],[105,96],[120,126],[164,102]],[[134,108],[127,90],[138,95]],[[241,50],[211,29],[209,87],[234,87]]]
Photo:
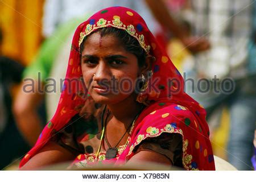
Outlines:
[[[183,90],[186,92],[189,90],[189,93],[216,93],[216,94],[231,94],[234,92],[236,87],[236,83],[232,78],[218,78],[216,75],[211,78],[187,78],[186,73],[183,73],[184,82],[181,83],[177,78],[166,78],[166,80],[161,80],[159,77],[150,78],[147,80],[147,87],[149,92],[153,91],[155,93],[160,93],[163,89],[168,89],[168,96],[170,94],[176,94]],[[56,80],[54,78],[46,78],[45,80],[41,79],[41,73],[38,73],[37,80],[33,78],[25,78],[24,81],[26,84],[23,85],[23,92],[31,93],[56,93],[57,88],[60,88],[60,92],[67,90],[69,93],[73,93],[73,89],[75,88],[77,91],[86,88],[86,85],[82,78],[60,78],[60,80]],[[92,80],[90,80],[92,81]],[[42,83],[44,82],[44,86],[41,84],[35,84],[35,82]],[[161,84],[160,84],[161,83]],[[103,94],[108,94],[109,92],[113,94],[125,93],[129,94],[132,92],[142,92],[141,87],[143,82],[141,78],[133,81],[130,78],[121,78],[117,79],[114,76],[110,79],[102,79],[97,83],[101,88],[104,89]],[[184,85],[184,86],[182,86]],[[35,88],[37,86],[37,88]],[[92,85],[93,86],[93,85]],[[167,87],[167,88],[166,88]]]

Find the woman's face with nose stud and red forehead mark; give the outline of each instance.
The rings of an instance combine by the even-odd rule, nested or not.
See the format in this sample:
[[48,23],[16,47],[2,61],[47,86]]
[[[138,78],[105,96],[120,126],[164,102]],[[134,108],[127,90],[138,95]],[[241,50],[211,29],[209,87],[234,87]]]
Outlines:
[[117,104],[131,96],[139,77],[137,57],[111,34],[96,32],[86,38],[81,68],[86,88],[100,104]]

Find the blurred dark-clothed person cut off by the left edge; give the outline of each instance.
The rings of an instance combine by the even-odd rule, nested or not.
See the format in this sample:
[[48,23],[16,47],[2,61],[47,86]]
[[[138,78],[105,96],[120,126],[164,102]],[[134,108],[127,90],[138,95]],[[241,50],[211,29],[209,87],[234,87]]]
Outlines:
[[20,83],[24,67],[2,55],[3,36],[0,28],[0,169],[29,150],[15,125],[12,111],[14,86]]

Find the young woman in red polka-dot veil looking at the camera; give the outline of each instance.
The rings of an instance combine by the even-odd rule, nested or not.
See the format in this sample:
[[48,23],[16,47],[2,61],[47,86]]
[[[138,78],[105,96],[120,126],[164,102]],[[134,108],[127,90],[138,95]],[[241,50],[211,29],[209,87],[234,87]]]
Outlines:
[[20,169],[73,160],[214,170],[205,110],[183,87],[141,16],[99,11],[77,27],[56,114]]

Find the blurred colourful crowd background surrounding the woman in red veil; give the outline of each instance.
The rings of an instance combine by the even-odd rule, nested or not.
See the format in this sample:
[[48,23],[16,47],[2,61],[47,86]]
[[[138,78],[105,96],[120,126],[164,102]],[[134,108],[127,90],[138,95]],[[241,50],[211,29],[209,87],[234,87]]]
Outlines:
[[137,11],[166,48],[207,109],[214,155],[253,170],[255,0],[1,0],[0,169],[18,169],[54,114],[61,85],[47,78],[65,77],[75,28],[109,6]]

